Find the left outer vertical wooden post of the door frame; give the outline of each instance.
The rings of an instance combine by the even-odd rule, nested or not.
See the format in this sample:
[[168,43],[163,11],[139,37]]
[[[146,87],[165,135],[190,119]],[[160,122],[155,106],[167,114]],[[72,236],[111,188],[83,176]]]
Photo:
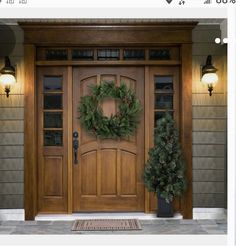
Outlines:
[[35,47],[25,45],[25,114],[24,114],[24,208],[25,219],[33,220],[37,213],[37,142]]

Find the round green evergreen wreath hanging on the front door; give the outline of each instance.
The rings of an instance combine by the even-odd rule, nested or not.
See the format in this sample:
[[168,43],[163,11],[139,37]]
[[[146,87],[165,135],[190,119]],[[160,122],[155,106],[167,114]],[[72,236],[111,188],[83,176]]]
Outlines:
[[[104,81],[91,86],[91,94],[81,97],[79,106],[82,126],[99,138],[125,138],[134,134],[142,110],[135,92],[124,82],[118,87],[114,82]],[[119,111],[109,118],[103,115],[102,100],[114,98],[119,101]]]

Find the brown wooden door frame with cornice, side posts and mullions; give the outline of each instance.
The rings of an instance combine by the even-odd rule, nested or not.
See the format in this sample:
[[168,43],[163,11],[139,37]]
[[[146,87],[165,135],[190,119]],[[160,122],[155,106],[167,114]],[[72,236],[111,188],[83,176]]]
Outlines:
[[[177,45],[180,47],[181,62],[180,74],[182,75],[181,90],[181,118],[180,132],[187,163],[188,190],[181,199],[182,214],[184,218],[192,218],[192,29],[196,22],[186,23],[150,23],[150,24],[44,24],[44,23],[19,23],[24,30],[24,61],[25,61],[25,112],[24,112],[24,208],[25,219],[33,220],[37,215],[37,91],[36,91],[36,65],[66,65],[71,71],[76,62],[41,62],[37,61],[36,49],[40,46],[161,46]],[[101,62],[102,65],[119,65],[120,63]],[[122,64],[122,63],[121,63]],[[120,65],[121,65],[120,64]],[[124,64],[124,63],[123,63]],[[176,63],[144,61],[145,81],[149,77],[149,65],[172,66]],[[86,64],[85,64],[86,65]],[[88,64],[87,64],[88,65]],[[99,62],[91,62],[99,65]],[[127,63],[137,65],[137,63]],[[140,65],[140,63],[139,63]],[[68,75],[69,77],[71,75]],[[72,83],[72,77],[69,84]],[[145,160],[148,158],[150,147],[150,132],[148,116],[150,109],[148,101],[149,86],[145,88]],[[68,129],[71,131],[72,129]],[[69,141],[70,143],[71,141]],[[71,146],[69,144],[68,150]],[[69,155],[70,156],[70,155]],[[68,160],[70,164],[70,160]],[[71,168],[68,175],[71,175]],[[70,189],[68,183],[68,189]],[[72,194],[68,195],[68,213],[71,213]],[[149,212],[149,194],[145,195],[145,212]]]

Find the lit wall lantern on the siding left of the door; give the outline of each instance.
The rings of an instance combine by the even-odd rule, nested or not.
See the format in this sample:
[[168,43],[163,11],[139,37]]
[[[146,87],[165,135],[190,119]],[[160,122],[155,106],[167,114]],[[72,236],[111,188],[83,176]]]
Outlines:
[[5,92],[7,97],[11,90],[11,85],[16,83],[15,68],[11,65],[8,56],[5,57],[5,66],[0,70],[0,83],[5,86]]

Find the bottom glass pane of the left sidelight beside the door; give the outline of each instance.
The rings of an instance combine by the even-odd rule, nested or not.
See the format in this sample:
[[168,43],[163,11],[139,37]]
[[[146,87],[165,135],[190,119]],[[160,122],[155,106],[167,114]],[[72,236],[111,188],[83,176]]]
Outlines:
[[44,146],[62,146],[63,145],[63,132],[54,130],[44,131]]

